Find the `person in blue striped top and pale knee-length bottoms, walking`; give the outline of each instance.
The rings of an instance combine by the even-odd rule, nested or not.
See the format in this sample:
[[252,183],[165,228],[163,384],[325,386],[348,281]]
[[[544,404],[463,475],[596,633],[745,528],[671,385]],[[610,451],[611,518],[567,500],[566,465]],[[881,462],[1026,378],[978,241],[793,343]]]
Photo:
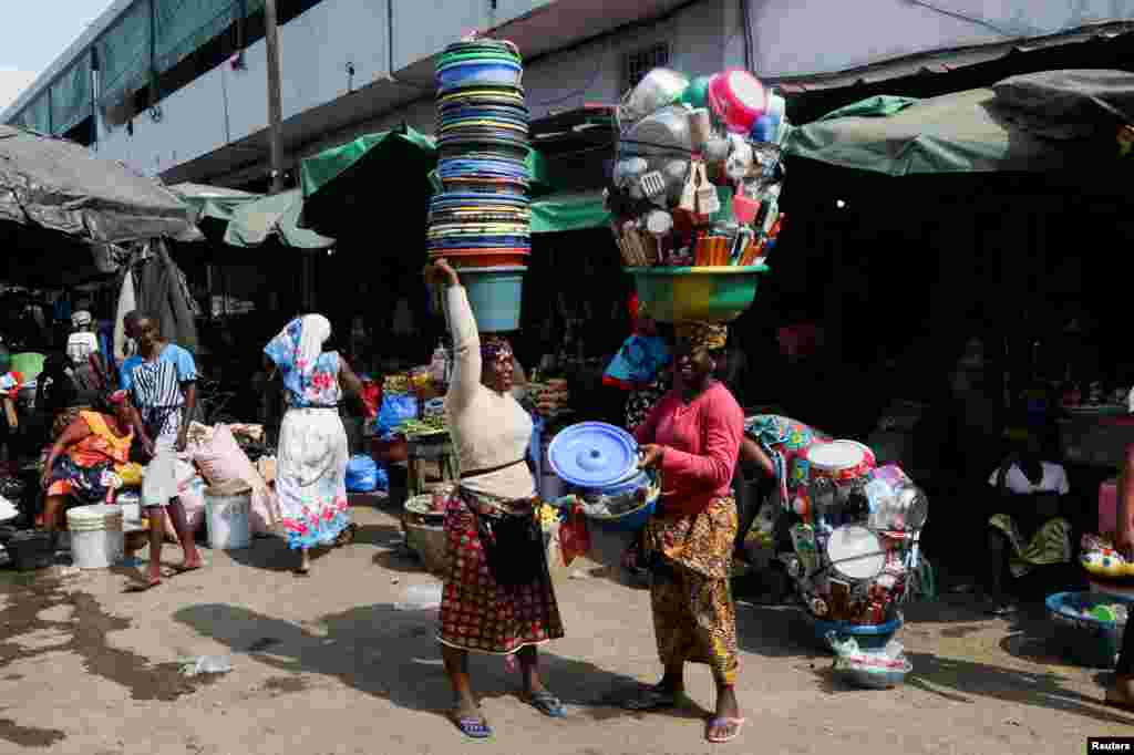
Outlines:
[[150,458],[142,482],[142,506],[150,519],[147,589],[161,584],[167,512],[185,554],[177,570],[203,566],[177,485],[177,455],[185,450],[197,404],[197,367],[192,354],[162,338],[154,315],[132,312],[125,320],[138,353],[122,364],[122,389],[133,399],[134,432]]

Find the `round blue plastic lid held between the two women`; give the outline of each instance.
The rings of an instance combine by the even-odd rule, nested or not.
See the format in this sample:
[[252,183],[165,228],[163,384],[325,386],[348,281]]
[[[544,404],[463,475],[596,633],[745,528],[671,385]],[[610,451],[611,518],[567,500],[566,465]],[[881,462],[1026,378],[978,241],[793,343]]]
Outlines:
[[637,442],[615,425],[581,422],[565,427],[548,446],[551,470],[577,487],[621,483],[637,468]]

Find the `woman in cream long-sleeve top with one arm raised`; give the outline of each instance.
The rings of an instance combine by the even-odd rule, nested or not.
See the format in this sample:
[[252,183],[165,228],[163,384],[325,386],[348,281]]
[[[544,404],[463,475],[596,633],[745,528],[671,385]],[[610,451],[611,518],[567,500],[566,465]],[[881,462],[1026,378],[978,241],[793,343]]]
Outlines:
[[449,572],[438,639],[456,697],[454,719],[467,737],[483,739],[491,729],[473,695],[468,652],[516,654],[525,699],[560,718],[566,712],[543,687],[536,647],[562,637],[564,627],[532,510],[532,418],[510,392],[511,347],[501,338],[482,340],[468,296],[445,260],[425,277],[445,287],[454,341],[446,410],[463,470],[445,512]]

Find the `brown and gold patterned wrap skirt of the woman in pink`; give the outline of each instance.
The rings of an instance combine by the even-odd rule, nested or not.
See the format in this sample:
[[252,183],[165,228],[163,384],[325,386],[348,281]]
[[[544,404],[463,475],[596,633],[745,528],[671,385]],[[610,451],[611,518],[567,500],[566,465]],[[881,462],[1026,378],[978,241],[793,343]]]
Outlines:
[[645,532],[658,656],[666,668],[708,664],[721,685],[736,684],[739,669],[729,585],[738,527],[736,500],[729,497],[693,517],[655,516]]

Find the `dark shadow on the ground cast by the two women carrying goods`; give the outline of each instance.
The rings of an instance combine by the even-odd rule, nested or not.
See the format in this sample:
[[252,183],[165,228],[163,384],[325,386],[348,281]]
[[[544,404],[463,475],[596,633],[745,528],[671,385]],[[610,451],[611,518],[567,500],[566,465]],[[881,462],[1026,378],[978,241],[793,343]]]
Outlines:
[[[175,619],[284,673],[333,677],[409,710],[447,714],[451,706],[434,635],[435,611],[399,611],[381,603],[323,617],[314,622],[318,630],[220,603],[183,609]],[[638,688],[631,677],[547,652],[540,653],[540,665],[548,686],[589,720],[645,715],[615,706]],[[472,673],[482,698],[518,692],[517,676],[500,658],[473,655]],[[708,711],[691,703],[667,714],[702,719]]]

